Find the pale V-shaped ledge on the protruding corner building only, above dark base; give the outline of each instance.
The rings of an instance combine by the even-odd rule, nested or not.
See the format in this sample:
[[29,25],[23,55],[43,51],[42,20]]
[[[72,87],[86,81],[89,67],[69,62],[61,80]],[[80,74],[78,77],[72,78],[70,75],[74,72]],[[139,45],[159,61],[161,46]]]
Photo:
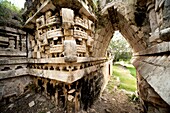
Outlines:
[[73,83],[83,76],[90,74],[103,67],[105,63],[90,66],[88,68],[76,70],[76,71],[56,71],[56,70],[42,70],[42,69],[29,69],[29,74],[37,77],[50,78],[66,83]]

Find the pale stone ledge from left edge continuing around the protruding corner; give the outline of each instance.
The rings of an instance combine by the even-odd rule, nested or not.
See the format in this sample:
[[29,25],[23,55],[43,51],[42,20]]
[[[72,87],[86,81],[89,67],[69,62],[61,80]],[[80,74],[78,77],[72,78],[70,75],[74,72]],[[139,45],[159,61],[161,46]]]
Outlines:
[[83,76],[99,70],[104,65],[106,65],[106,63],[107,61],[104,63],[98,63],[94,66],[90,66],[75,71],[57,71],[57,70],[28,69],[28,68],[9,70],[9,71],[0,71],[0,80],[7,79],[7,78],[14,78],[18,76],[33,75],[37,77],[50,78],[66,83],[73,83],[81,79]]

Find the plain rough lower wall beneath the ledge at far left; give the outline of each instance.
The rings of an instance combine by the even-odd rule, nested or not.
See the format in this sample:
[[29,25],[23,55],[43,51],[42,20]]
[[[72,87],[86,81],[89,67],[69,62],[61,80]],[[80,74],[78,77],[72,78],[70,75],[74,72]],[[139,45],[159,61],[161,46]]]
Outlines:
[[30,90],[32,83],[33,78],[30,76],[0,79],[0,106],[14,102]]

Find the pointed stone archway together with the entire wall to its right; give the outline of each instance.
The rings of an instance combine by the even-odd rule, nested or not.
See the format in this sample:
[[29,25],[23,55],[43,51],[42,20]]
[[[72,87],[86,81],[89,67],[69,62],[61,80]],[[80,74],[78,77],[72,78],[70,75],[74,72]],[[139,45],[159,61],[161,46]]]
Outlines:
[[[170,104],[167,93],[169,82],[166,80],[170,74],[168,71],[170,50],[169,42],[162,40],[162,36],[168,36],[168,30],[166,28],[162,31],[158,30],[160,26],[163,28],[164,24],[160,25],[161,20],[156,18],[162,14],[160,11],[154,11],[158,4],[155,2],[148,0],[141,3],[139,0],[128,3],[128,1],[114,0],[106,4],[101,11],[103,21],[99,24],[102,27],[99,26],[101,28],[95,37],[93,55],[104,56],[114,31],[119,30],[133,49],[138,92],[146,111],[166,113],[169,111],[168,104]],[[162,6],[159,8],[163,10]]]

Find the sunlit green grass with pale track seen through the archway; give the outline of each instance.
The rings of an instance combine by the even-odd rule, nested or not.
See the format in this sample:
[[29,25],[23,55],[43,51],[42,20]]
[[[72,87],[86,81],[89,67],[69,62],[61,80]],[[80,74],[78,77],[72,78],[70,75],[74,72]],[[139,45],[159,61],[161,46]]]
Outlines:
[[113,74],[108,84],[108,89],[112,89],[117,84],[117,78],[120,80],[119,89],[131,92],[137,90],[136,70],[132,65],[128,64],[124,65],[124,67],[119,64],[113,65]]

